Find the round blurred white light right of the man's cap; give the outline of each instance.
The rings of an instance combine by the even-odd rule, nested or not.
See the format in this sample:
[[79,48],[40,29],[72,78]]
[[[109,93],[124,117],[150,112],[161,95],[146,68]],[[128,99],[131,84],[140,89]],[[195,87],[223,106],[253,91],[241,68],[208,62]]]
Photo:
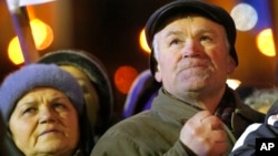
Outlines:
[[231,10],[236,28],[240,31],[252,29],[258,22],[258,13],[254,7],[248,3],[239,3]]

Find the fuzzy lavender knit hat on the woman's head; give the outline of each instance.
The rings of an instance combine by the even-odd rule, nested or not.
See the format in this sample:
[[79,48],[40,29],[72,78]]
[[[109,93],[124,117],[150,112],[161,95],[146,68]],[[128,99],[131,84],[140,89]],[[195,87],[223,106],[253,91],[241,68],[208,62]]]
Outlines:
[[0,87],[0,111],[6,123],[17,102],[36,87],[53,87],[63,92],[79,114],[83,110],[82,91],[68,72],[54,64],[30,64],[9,74]]

